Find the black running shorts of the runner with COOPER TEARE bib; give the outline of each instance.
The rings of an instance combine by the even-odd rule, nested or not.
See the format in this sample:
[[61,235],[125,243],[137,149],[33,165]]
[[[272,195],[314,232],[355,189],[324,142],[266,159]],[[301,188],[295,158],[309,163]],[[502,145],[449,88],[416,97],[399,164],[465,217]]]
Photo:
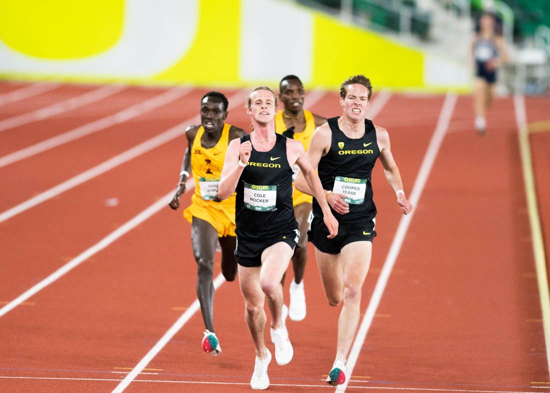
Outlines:
[[334,239],[328,239],[327,226],[322,219],[314,217],[307,238],[317,250],[327,254],[339,254],[342,248],[355,241],[370,241],[376,236],[375,221],[366,223],[339,224],[338,235]]

